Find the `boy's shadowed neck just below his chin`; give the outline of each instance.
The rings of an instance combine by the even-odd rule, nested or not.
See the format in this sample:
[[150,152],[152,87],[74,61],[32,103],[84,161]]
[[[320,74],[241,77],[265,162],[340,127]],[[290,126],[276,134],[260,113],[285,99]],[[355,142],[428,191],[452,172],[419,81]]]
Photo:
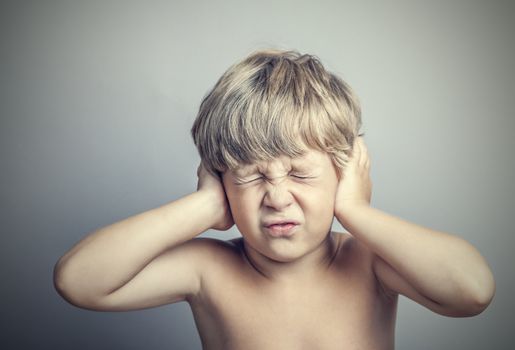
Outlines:
[[315,249],[288,262],[270,259],[246,244],[245,240],[242,242],[249,264],[274,282],[301,282],[320,276],[329,269],[338,251],[338,238],[332,232]]

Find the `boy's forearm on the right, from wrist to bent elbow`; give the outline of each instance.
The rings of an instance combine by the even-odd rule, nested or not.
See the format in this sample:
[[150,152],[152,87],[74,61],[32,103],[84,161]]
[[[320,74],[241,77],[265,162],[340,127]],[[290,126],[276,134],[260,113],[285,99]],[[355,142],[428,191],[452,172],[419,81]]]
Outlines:
[[441,305],[489,301],[493,289],[490,269],[463,239],[366,205],[350,208],[337,218],[421,295]]

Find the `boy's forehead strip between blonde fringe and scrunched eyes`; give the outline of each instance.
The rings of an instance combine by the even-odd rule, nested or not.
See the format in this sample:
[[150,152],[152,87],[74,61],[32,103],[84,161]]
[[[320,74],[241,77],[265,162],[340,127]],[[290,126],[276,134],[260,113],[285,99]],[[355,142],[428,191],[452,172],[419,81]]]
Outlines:
[[301,156],[288,157],[280,156],[271,160],[258,161],[252,164],[241,164],[232,169],[236,175],[244,176],[254,172],[268,172],[274,170],[314,170],[331,165],[330,157],[327,153],[314,149],[306,150]]

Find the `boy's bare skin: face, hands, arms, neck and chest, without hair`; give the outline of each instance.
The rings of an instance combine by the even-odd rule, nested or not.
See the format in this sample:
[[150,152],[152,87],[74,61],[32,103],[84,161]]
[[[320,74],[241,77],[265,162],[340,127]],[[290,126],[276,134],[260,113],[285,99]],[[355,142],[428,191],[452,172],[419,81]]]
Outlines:
[[[196,192],[67,252],[56,288],[93,310],[187,301],[204,349],[393,349],[398,294],[442,315],[484,310],[495,285],[483,257],[371,207],[369,163],[358,138],[343,176],[314,150],[221,179],[200,166]],[[333,217],[347,233],[330,232]],[[195,238],[234,223],[243,238]]]

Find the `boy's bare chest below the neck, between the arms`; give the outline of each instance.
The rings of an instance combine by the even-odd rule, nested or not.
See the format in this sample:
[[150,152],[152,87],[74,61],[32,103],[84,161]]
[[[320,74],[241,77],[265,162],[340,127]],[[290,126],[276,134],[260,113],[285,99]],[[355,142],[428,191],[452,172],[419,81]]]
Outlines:
[[395,301],[365,280],[285,289],[227,281],[192,304],[205,349],[390,349]]

